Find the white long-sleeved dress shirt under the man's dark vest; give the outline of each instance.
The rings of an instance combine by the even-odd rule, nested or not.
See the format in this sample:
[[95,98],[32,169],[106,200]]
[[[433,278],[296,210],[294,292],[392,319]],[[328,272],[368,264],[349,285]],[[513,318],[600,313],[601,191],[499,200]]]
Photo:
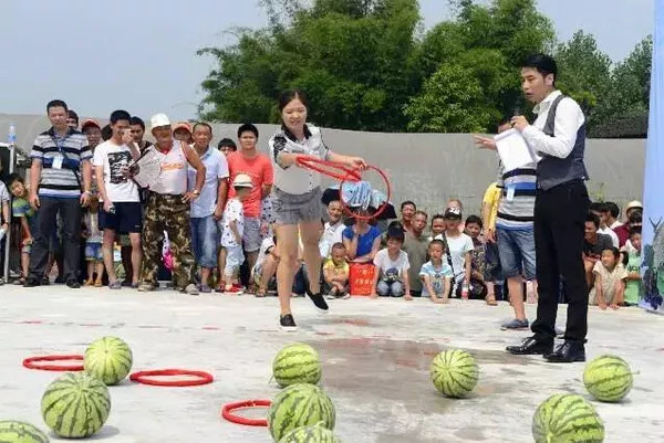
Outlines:
[[538,155],[537,161],[540,161],[544,155],[567,158],[574,148],[579,128],[585,122],[585,116],[579,104],[570,97],[564,97],[560,101],[556,110],[554,137],[543,133],[551,104],[561,94],[560,91],[553,91],[532,109],[537,114],[537,119],[521,133],[528,145]]

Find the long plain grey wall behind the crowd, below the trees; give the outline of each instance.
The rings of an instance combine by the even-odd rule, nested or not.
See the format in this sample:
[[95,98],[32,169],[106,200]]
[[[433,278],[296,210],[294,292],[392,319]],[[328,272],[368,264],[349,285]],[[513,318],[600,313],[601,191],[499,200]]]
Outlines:
[[[81,117],[81,122],[85,117]],[[102,124],[106,120],[98,119]],[[146,118],[147,120],[147,118]],[[19,146],[29,150],[37,134],[49,128],[43,116],[0,114],[0,140],[7,140],[10,122],[17,125]],[[215,124],[214,143],[237,139],[238,125]],[[277,129],[258,125],[260,149]],[[149,138],[149,137],[148,137]],[[413,200],[429,213],[439,212],[450,198],[460,199],[466,213],[478,212],[484,191],[498,175],[495,152],[478,150],[468,134],[381,134],[324,129],[323,138],[341,154],[363,156],[382,168],[392,182],[395,204]],[[603,197],[623,207],[643,193],[645,140],[589,139],[587,165],[594,199]],[[367,177],[370,175],[367,173]],[[375,173],[371,181],[380,189]]]

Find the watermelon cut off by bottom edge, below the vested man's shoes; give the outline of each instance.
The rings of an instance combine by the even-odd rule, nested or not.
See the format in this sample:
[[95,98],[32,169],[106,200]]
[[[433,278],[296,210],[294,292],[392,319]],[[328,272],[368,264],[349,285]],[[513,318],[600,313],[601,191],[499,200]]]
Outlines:
[[532,436],[536,443],[601,443],[604,424],[583,397],[557,393],[535,412]]

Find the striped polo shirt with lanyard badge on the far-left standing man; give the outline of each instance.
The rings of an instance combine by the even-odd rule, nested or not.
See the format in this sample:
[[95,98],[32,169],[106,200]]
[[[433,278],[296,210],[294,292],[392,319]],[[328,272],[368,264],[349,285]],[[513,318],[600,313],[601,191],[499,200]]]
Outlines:
[[[83,134],[70,129],[64,137],[59,137],[51,128],[37,136],[30,157],[42,164],[40,196],[64,199],[81,197],[81,162],[92,158],[87,138]],[[59,164],[60,168],[56,167]]]

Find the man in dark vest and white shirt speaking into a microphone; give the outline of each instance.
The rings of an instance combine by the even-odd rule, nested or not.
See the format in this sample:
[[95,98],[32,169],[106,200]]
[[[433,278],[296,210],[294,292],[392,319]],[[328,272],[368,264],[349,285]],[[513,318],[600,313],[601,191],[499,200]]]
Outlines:
[[[511,125],[537,155],[535,243],[539,304],[535,334],[520,346],[508,346],[517,355],[543,355],[550,362],[585,361],[588,287],[583,268],[584,222],[590,207],[584,180],[585,117],[579,104],[556,89],[556,61],[543,54],[529,56],[521,68],[521,88],[536,104],[532,125],[516,116]],[[477,137],[494,148],[495,141]],[[566,283],[568,320],[564,344],[553,350],[560,276]]]

